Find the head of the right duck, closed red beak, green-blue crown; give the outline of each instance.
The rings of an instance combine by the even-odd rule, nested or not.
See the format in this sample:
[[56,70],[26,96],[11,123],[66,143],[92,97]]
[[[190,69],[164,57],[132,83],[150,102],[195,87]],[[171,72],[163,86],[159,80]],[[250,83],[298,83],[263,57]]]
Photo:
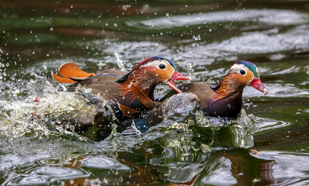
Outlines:
[[243,85],[252,86],[261,91],[264,95],[268,94],[268,89],[261,82],[260,74],[255,64],[249,61],[236,61],[228,74],[234,74],[234,78]]

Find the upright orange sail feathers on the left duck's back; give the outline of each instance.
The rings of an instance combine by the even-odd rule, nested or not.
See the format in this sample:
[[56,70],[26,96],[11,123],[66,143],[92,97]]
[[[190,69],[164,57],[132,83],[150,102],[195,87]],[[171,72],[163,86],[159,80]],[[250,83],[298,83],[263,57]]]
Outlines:
[[80,69],[76,63],[65,63],[60,66],[58,72],[62,77],[56,75],[53,71],[52,77],[59,83],[75,83],[87,79],[88,77],[95,76],[94,73],[88,73]]

